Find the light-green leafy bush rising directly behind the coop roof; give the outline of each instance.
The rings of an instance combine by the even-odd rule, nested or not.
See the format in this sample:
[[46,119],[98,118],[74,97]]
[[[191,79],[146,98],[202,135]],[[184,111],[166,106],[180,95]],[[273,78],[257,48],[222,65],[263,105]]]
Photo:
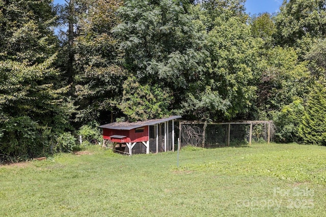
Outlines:
[[141,85],[135,77],[128,78],[123,89],[119,108],[130,121],[162,118],[170,114],[173,98],[168,89],[161,89],[158,85]]

